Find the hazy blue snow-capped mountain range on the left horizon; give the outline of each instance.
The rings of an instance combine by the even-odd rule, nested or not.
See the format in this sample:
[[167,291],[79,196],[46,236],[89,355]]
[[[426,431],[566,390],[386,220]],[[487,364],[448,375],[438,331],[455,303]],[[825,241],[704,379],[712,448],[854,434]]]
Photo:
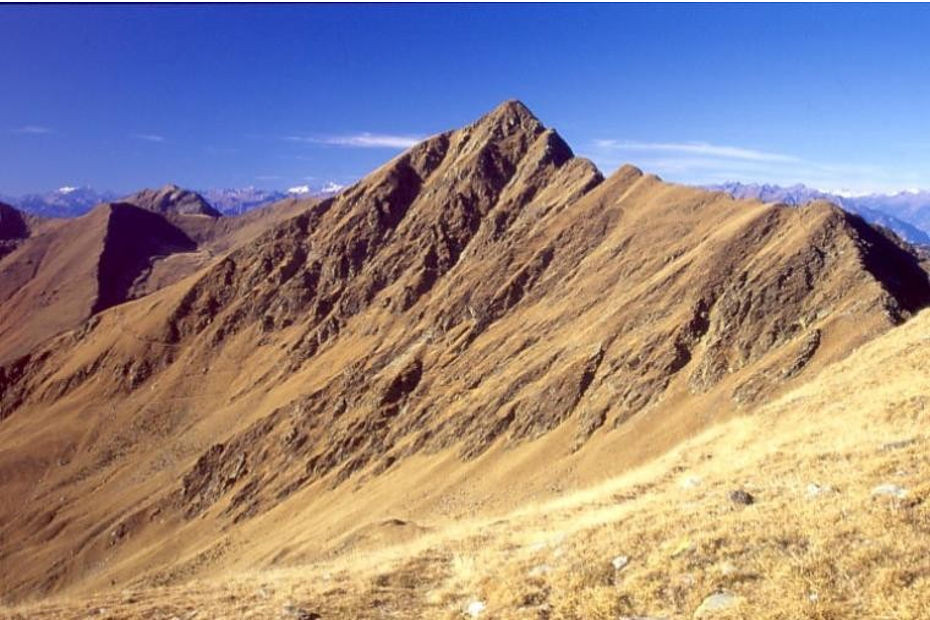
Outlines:
[[[338,193],[342,188],[342,185],[327,183],[321,187],[301,185],[286,190],[244,187],[199,190],[197,193],[223,215],[239,215],[289,196],[327,196]],[[0,195],[0,202],[43,217],[77,217],[89,212],[95,205],[120,198],[120,194],[107,190],[65,186],[45,193]]]

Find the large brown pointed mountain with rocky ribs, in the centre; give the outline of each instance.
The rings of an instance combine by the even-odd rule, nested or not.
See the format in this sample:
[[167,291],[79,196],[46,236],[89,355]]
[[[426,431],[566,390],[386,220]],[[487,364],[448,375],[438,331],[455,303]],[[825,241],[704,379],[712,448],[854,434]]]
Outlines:
[[604,179],[507,102],[0,367],[0,484],[31,490],[0,508],[6,593],[318,559],[363,515],[591,480],[928,301],[835,207]]

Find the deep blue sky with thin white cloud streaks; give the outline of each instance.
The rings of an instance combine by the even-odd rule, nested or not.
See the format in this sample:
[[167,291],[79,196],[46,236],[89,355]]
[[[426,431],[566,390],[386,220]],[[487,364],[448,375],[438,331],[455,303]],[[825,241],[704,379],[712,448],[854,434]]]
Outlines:
[[920,5],[0,6],[0,193],[345,183],[524,101],[605,173],[930,187]]

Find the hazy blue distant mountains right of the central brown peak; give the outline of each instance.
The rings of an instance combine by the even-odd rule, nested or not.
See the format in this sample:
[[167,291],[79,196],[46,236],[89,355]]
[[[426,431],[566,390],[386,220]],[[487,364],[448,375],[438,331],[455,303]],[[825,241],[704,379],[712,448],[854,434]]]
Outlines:
[[910,243],[930,244],[930,191],[842,196],[806,185],[723,183],[708,189],[723,191],[734,198],[756,198],[764,202],[803,205],[812,200],[828,200],[844,210],[862,216],[867,222],[893,230]]

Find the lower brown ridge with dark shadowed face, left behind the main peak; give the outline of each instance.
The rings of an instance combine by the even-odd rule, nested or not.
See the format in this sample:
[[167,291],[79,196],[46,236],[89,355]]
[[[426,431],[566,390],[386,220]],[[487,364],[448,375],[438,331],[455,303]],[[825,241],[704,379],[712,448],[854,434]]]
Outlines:
[[[190,192],[176,192],[190,204]],[[145,192],[140,193],[140,195]],[[116,202],[71,220],[0,205],[0,362],[90,316],[177,282],[231,247],[313,204],[284,201],[233,218],[159,212]],[[15,251],[14,251],[15,250]]]

